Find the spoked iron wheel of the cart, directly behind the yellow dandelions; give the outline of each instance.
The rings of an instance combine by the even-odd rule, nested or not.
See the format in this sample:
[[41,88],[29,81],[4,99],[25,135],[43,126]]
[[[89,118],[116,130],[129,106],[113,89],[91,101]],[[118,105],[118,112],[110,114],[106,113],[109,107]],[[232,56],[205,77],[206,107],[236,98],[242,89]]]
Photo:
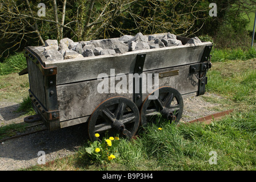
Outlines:
[[[89,119],[88,133],[90,140],[103,137],[107,131],[109,137],[133,138],[139,127],[139,110],[133,101],[125,97],[112,97],[96,107]],[[101,138],[98,138],[101,140]]]

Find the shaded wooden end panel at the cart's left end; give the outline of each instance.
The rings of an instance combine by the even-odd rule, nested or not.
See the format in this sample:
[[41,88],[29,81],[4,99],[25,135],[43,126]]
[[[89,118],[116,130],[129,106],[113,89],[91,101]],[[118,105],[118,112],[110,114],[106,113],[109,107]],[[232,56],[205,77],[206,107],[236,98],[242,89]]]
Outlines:
[[40,69],[30,60],[27,59],[27,68],[29,70],[29,85],[30,90],[35,94],[35,97],[42,103],[43,106],[46,106],[45,98],[45,88],[44,88],[44,78]]

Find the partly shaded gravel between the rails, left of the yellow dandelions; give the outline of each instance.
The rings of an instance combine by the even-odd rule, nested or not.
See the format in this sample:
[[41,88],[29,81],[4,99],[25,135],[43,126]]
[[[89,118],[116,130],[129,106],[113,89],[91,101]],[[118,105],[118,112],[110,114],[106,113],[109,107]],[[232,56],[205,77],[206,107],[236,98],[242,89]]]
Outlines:
[[71,154],[86,142],[87,123],[56,131],[41,131],[0,143],[0,161],[3,162],[4,159],[19,161],[35,159],[35,162],[37,162],[39,151],[45,152],[46,161],[50,161]]

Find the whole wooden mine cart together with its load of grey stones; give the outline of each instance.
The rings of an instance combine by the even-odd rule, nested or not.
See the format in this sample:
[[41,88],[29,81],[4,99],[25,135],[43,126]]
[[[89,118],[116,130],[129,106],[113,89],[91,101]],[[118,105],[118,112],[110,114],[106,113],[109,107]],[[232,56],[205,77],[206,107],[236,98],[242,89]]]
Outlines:
[[168,33],[26,47],[19,75],[29,73],[37,115],[25,122],[39,117],[49,130],[87,122],[91,140],[106,131],[133,138],[158,114],[178,122],[183,98],[205,93],[212,46]]

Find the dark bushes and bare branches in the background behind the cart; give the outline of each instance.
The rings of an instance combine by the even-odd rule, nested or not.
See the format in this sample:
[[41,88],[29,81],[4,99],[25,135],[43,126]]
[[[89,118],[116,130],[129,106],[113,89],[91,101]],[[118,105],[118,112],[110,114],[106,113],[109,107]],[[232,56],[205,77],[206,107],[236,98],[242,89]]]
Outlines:
[[[217,17],[209,4],[217,4]],[[38,16],[45,3],[46,16]],[[0,0],[0,59],[47,39],[74,41],[171,32],[210,36],[217,48],[250,46],[255,0]]]

